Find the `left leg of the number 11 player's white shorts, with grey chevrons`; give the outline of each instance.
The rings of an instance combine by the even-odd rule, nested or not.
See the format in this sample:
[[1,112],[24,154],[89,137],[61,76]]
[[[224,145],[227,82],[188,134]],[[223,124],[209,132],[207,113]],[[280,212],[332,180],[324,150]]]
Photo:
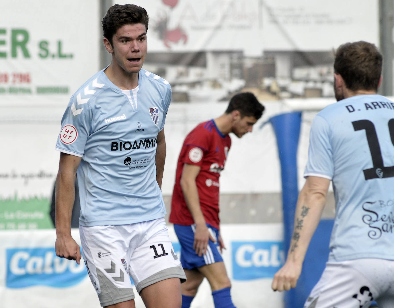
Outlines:
[[126,260],[127,245],[116,227],[80,226],[82,255],[102,306],[134,299],[132,284],[122,262]]

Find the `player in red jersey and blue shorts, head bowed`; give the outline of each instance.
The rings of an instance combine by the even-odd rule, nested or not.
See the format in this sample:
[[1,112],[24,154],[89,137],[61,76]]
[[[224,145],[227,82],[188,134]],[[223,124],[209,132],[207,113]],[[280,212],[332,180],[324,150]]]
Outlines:
[[225,247],[219,234],[219,176],[231,145],[229,133],[240,138],[251,132],[263,111],[252,93],[234,95],[223,115],[197,125],[182,145],[169,217],[187,277],[181,285],[182,308],[190,307],[204,277],[216,308],[235,307],[221,257]]

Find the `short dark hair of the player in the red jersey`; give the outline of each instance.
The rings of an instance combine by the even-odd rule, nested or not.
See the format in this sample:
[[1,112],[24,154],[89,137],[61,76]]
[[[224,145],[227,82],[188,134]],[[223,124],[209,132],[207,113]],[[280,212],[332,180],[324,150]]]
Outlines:
[[262,116],[264,109],[265,107],[260,104],[253,93],[243,92],[232,96],[225,113],[238,110],[241,117],[255,117],[258,120]]

